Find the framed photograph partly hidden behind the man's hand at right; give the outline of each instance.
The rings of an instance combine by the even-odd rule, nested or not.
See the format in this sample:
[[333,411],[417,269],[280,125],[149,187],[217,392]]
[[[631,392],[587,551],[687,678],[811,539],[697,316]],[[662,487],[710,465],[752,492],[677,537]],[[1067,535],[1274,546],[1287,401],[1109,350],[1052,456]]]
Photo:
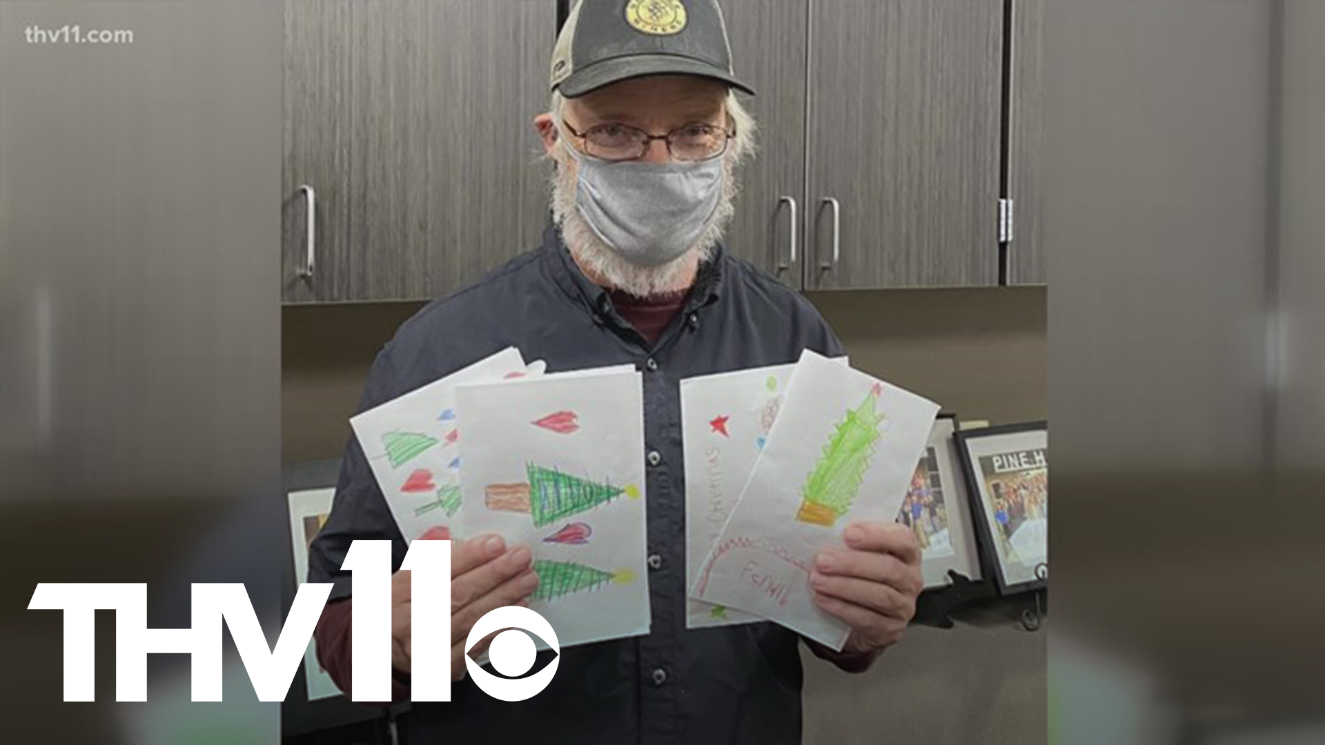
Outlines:
[[973,581],[983,578],[970,497],[953,440],[955,432],[957,416],[939,415],[897,514],[897,522],[916,533],[924,551],[921,571],[926,590],[950,585],[949,570]]

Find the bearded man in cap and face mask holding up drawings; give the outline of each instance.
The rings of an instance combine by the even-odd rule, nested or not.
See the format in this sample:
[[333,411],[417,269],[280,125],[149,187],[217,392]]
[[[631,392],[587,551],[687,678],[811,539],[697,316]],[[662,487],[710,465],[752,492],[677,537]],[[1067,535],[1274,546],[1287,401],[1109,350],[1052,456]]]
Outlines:
[[[685,628],[685,473],[678,382],[843,354],[815,309],[723,252],[737,163],[754,122],[713,0],[583,0],[553,58],[551,111],[535,126],[556,166],[554,224],[538,249],[433,302],[400,327],[368,376],[368,408],[509,345],[550,370],[632,363],[644,372],[651,631],[562,650],[556,676],[519,704],[460,683],[449,704],[413,707],[416,742],[750,742],[800,740],[800,639],[774,623]],[[815,447],[807,443],[806,447]],[[319,659],[350,684],[350,542],[405,545],[352,440],[335,505],[313,545],[310,578],[334,582]],[[921,589],[910,530],[856,524],[823,551],[815,599],[852,627],[843,652],[860,671],[902,635]],[[527,546],[496,536],[453,545],[452,669],[489,610],[537,587]],[[394,663],[408,697],[409,583],[394,582]],[[423,632],[423,631],[421,631]],[[535,668],[551,652],[541,654]]]

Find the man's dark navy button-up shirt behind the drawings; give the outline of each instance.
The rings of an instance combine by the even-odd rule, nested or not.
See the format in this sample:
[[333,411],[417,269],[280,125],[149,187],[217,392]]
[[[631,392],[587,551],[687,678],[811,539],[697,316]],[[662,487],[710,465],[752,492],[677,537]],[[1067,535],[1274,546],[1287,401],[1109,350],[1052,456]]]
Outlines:
[[[452,701],[415,704],[413,742],[751,744],[800,741],[799,638],[772,623],[685,627],[685,459],[680,380],[843,349],[810,302],[721,248],[681,312],[649,343],[590,282],[549,228],[539,249],[478,284],[429,304],[378,355],[360,411],[507,346],[547,371],[632,363],[644,378],[648,444],[649,603],[647,636],[562,650],[551,684],[521,703],[492,699],[468,679]],[[812,447],[807,444],[807,447]],[[657,457],[653,457],[653,455]],[[335,502],[313,544],[309,581],[350,595],[341,570],[354,540],[405,542],[358,443],[346,449]],[[551,652],[541,652],[541,669]]]

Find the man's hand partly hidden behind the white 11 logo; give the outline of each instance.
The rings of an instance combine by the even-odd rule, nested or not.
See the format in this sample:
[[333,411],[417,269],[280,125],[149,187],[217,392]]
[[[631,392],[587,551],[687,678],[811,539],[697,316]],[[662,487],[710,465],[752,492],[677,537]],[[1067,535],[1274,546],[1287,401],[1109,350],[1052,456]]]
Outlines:
[[[425,533],[420,541],[450,537],[445,528]],[[538,587],[533,554],[526,547],[507,549],[500,536],[478,536],[450,544],[450,679],[465,677],[465,639],[488,611],[523,606]],[[488,647],[492,635],[474,644]],[[409,672],[409,571],[391,578],[391,664]]]

